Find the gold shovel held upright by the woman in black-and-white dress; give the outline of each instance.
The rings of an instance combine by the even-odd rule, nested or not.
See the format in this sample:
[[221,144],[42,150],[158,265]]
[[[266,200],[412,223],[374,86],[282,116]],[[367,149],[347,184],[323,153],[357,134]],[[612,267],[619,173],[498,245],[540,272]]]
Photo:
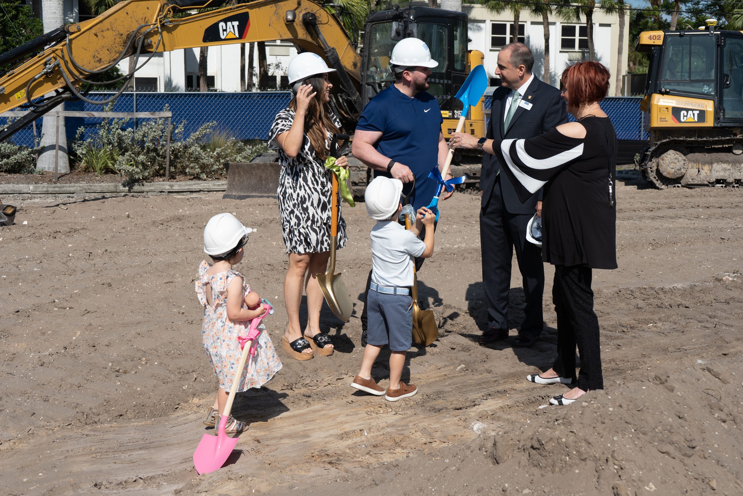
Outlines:
[[[345,140],[340,150],[337,150],[337,141]],[[333,135],[333,141],[331,142],[331,155],[338,157],[343,154],[343,151],[348,146],[350,140],[348,135]],[[328,261],[328,269],[325,274],[317,274],[317,283],[322,289],[322,294],[325,295],[325,301],[328,302],[328,306],[333,311],[337,318],[341,321],[348,321],[351,318],[351,313],[354,312],[354,303],[351,302],[351,295],[348,294],[348,289],[345,289],[345,283],[343,282],[343,274],[333,274],[335,271],[335,251],[338,244],[338,178],[333,173],[333,200],[331,207],[331,224],[330,224],[330,260]]]

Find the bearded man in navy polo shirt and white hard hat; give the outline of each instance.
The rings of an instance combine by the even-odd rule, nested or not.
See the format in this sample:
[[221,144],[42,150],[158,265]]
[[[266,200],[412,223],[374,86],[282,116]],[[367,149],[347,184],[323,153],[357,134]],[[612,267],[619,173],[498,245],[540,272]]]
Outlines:
[[[426,43],[417,38],[400,40],[392,49],[390,65],[395,84],[380,91],[366,105],[354,133],[352,152],[374,177],[386,175],[403,182],[415,178],[410,203],[418,210],[435,196],[438,183],[428,177],[433,167],[443,168],[449,149],[441,133],[441,108],[435,97],[426,93],[430,87],[431,68],[438,62],[431,59]],[[447,175],[447,179],[451,175]],[[448,193],[442,199],[452,195]],[[421,231],[421,236],[425,231]],[[415,261],[421,268],[423,259]],[[366,292],[369,292],[369,280]],[[362,346],[366,334],[366,305],[361,314]]]

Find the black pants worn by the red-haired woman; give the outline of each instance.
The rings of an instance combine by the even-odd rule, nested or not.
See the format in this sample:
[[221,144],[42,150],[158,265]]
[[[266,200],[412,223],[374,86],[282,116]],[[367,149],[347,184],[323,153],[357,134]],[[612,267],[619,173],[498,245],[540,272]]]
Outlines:
[[[584,391],[603,389],[599,320],[594,313],[591,268],[555,265],[552,299],[557,313],[557,360],[552,368],[570,377]],[[575,373],[575,347],[580,354],[580,376]]]

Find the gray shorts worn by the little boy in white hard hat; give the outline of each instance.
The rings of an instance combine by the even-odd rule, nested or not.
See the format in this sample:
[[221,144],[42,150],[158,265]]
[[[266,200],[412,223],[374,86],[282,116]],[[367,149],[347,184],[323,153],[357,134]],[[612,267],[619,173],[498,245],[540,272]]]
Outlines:
[[392,351],[407,351],[413,344],[413,299],[407,294],[386,294],[369,289],[366,342]]

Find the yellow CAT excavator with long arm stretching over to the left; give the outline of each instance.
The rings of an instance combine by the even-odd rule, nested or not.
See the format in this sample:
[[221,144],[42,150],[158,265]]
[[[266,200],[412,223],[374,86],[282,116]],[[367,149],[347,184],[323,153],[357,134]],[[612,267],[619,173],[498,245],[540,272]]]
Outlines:
[[[0,54],[0,68],[4,68],[0,71],[0,113],[29,109],[27,115],[0,129],[0,141],[66,100],[97,104],[114,100],[118,94],[91,100],[82,85],[126,57],[137,57],[138,68],[158,52],[277,39],[292,42],[299,51],[314,52],[337,69],[331,80],[340,90],[334,92],[331,105],[345,131],[353,132],[366,103],[394,81],[389,71],[392,47],[409,36],[423,39],[439,62],[429,92],[441,105],[441,127],[448,137],[462,112],[454,95],[470,68],[481,65],[483,59],[481,52],[467,50],[467,15],[460,12],[395,5],[392,10],[373,13],[366,20],[359,54],[340,21],[344,12],[339,4],[328,4],[334,10],[331,13],[325,8],[328,5],[312,0],[259,0],[221,7],[224,3],[121,1],[94,19],[62,26]],[[132,77],[134,71],[120,79]],[[465,125],[473,135],[484,135],[482,101]]]

